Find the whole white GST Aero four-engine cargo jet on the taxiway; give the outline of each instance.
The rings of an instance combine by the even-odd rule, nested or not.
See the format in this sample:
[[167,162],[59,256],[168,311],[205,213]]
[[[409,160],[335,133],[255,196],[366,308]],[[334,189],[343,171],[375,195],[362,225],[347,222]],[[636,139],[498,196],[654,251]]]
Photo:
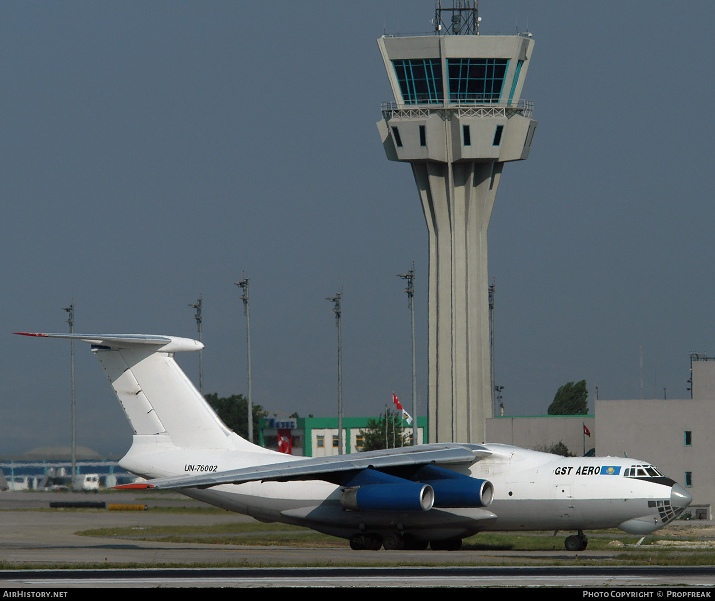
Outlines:
[[149,482],[264,522],[350,540],[353,549],[457,550],[485,530],[658,530],[691,502],[652,465],[561,457],[506,444],[420,444],[320,458],[258,447],[232,432],[174,361],[203,347],[169,336],[27,334],[92,344],[129,424],[119,465]]

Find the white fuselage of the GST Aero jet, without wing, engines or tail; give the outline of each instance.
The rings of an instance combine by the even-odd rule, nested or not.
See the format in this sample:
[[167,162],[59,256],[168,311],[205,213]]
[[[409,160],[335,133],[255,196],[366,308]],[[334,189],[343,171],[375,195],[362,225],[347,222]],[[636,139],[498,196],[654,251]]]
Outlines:
[[[674,519],[690,501],[687,492],[673,480],[648,474],[644,468],[651,466],[638,460],[560,457],[503,444],[483,446],[492,451],[490,457],[461,469],[447,467],[490,481],[494,495],[488,507],[433,507],[417,512],[350,511],[340,503],[345,487],[322,480],[247,482],[205,490],[186,488],[181,492],[265,522],[303,525],[345,538],[355,532],[398,530],[425,540],[466,537],[487,530],[612,527],[644,535]],[[152,457],[151,465],[144,463],[146,457]],[[274,452],[167,449],[152,455],[130,451],[120,465],[154,478],[225,472],[297,459]],[[640,477],[639,469],[644,472]],[[626,470],[635,470],[634,476],[626,477]]]

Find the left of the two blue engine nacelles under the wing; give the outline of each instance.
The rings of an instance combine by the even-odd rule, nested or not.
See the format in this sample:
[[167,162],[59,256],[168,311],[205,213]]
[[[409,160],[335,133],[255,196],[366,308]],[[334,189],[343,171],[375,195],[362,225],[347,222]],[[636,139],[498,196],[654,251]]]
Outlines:
[[352,511],[428,511],[434,502],[430,485],[408,480],[350,487],[340,497],[342,507]]

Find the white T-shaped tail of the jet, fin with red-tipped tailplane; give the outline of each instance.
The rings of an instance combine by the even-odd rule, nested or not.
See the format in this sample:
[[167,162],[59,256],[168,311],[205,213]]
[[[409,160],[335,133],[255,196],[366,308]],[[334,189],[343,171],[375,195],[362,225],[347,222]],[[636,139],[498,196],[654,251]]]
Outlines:
[[142,334],[31,334],[92,344],[136,436],[162,435],[174,447],[262,449],[232,432],[174,360],[175,352],[197,351],[189,338]]

